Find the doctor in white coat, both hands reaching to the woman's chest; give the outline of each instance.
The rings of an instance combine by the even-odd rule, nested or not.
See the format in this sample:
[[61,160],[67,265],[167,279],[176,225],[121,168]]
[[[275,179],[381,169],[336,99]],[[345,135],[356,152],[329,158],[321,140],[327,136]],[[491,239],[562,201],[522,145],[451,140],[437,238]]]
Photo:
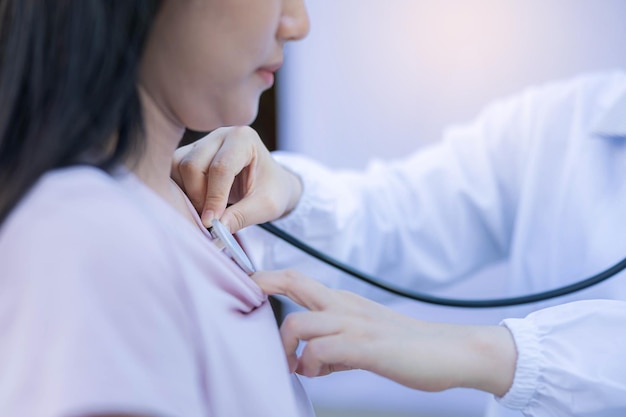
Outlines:
[[[220,218],[235,232],[277,219],[397,285],[429,288],[507,260],[512,295],[547,290],[626,256],[626,73],[528,89],[363,172],[271,155],[251,129],[228,128],[181,148],[172,175],[206,224]],[[263,239],[260,269],[297,268],[301,258],[275,244]],[[626,415],[620,275],[493,326],[409,319],[292,270],[255,278],[311,310],[282,328],[305,375],[368,369],[420,390],[481,389],[526,416],[609,417]]]

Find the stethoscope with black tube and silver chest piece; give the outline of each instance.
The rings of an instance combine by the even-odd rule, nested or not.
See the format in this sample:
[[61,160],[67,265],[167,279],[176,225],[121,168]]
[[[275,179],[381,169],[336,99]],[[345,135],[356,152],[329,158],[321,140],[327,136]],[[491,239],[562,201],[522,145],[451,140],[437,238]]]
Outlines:
[[[224,249],[227,254],[239,265],[241,269],[244,270],[248,275],[251,275],[255,272],[255,268],[252,265],[252,262],[243,251],[239,243],[235,240],[233,235],[224,227],[219,220],[213,220],[212,227],[209,229],[211,235],[219,240],[221,244],[224,245]],[[284,240],[290,245],[302,250],[310,256],[334,267],[340,271],[343,271],[361,281],[367,282],[374,287],[380,288],[392,294],[398,295],[400,297],[408,298],[410,300],[421,301],[428,304],[435,304],[440,306],[448,306],[448,307],[464,307],[464,308],[492,308],[492,307],[510,307],[522,304],[530,304],[536,303],[539,301],[545,301],[552,298],[562,297],[564,295],[572,294],[577,291],[584,290],[593,285],[599,284],[607,279],[617,275],[619,272],[626,268],[626,258],[622,259],[615,265],[607,268],[606,270],[600,272],[599,274],[593,275],[589,278],[580,280],[573,284],[565,285],[563,287],[555,288],[553,290],[547,290],[542,292],[537,292],[528,295],[522,295],[518,297],[507,297],[507,298],[494,298],[494,299],[484,299],[484,300],[464,300],[464,299],[454,299],[454,298],[445,298],[445,297],[437,297],[425,293],[420,293],[416,291],[411,291],[406,288],[401,288],[395,286],[389,282],[383,281],[376,277],[373,277],[365,272],[359,271],[349,265],[346,265],[331,256],[318,251],[305,244],[304,242],[296,239],[289,233],[284,230],[279,229],[271,223],[263,223],[260,224],[263,230],[273,234],[274,236]],[[220,245],[221,245],[220,244]]]

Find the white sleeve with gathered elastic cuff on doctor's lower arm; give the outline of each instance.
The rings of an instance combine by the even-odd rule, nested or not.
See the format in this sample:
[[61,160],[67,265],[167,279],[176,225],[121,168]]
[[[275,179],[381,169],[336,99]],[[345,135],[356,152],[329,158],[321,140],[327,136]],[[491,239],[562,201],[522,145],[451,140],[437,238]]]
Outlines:
[[502,405],[528,417],[626,415],[626,302],[572,302],[503,325],[518,360]]

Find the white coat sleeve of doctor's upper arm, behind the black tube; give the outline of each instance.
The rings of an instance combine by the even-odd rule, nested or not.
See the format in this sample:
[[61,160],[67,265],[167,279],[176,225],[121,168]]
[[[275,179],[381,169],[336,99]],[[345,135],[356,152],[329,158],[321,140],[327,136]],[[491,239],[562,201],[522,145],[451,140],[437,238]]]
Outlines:
[[[298,206],[275,224],[338,259],[415,289],[500,261],[509,252],[536,95],[529,91],[495,103],[474,123],[448,130],[440,143],[404,160],[374,162],[364,172],[334,171],[275,153],[304,186]],[[267,241],[258,258],[262,267],[305,265],[311,273],[300,253]],[[343,286],[339,277],[316,277]]]

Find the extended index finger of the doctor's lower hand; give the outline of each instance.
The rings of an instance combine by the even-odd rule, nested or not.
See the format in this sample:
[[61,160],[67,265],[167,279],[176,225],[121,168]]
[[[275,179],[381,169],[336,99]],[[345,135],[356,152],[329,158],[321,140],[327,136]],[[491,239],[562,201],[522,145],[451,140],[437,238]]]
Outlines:
[[259,271],[252,278],[266,294],[284,295],[309,310],[321,311],[331,306],[332,290],[298,271]]

